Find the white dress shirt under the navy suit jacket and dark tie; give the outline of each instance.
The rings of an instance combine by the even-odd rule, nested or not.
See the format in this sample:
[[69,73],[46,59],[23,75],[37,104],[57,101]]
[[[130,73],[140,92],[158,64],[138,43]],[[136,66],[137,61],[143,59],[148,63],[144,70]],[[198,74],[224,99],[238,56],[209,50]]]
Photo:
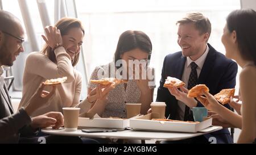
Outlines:
[[[207,49],[205,50],[204,54],[198,58],[196,61],[191,60],[190,57],[187,57],[187,60],[184,65],[184,70],[182,74],[181,81],[183,81],[186,85],[185,87],[188,87],[188,79],[189,79],[189,74],[191,73],[191,62],[195,62],[197,65],[196,72],[197,72],[197,78],[199,77],[201,73],[201,69],[203,68],[205,58],[207,57],[207,54],[209,52],[209,47],[207,45]],[[178,107],[177,107],[177,118],[178,120],[184,120],[184,115],[185,115],[185,103],[181,102],[178,100],[177,102]]]

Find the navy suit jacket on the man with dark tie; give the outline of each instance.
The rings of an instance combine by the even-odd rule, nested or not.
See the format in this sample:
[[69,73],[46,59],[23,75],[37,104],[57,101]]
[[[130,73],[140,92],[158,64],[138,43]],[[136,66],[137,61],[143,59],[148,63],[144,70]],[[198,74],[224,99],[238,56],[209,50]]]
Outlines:
[[[201,69],[197,84],[205,84],[209,87],[210,94],[217,94],[222,89],[230,89],[236,86],[237,64],[236,62],[226,58],[222,53],[217,52],[210,44],[208,44],[209,52],[205,59],[203,68]],[[178,79],[182,78],[185,61],[187,57],[182,56],[181,52],[167,55],[164,58],[162,68],[162,78],[158,87],[156,101],[166,102],[166,117],[170,114],[171,119],[177,116],[177,99],[170,94],[168,89],[163,87],[168,76]],[[198,102],[197,106],[203,107]],[[225,105],[230,108],[228,104]],[[228,129],[213,132],[205,135],[207,140],[209,137],[216,137],[218,143],[233,143]]]

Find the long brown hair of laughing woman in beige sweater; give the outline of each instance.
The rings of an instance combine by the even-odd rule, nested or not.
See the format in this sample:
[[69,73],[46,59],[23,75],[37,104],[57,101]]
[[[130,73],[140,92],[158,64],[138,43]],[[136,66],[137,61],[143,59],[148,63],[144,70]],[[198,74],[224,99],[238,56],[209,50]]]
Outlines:
[[[61,36],[67,35],[68,31],[71,28],[81,28],[82,33],[84,33],[84,27],[82,27],[82,23],[80,20],[76,18],[61,18],[56,24],[55,27],[60,30]],[[49,45],[44,45],[42,52],[49,57],[49,60],[52,62],[56,61],[55,53],[52,51],[52,48]],[[75,66],[79,61],[80,52],[75,56],[74,60],[72,61],[72,66]]]

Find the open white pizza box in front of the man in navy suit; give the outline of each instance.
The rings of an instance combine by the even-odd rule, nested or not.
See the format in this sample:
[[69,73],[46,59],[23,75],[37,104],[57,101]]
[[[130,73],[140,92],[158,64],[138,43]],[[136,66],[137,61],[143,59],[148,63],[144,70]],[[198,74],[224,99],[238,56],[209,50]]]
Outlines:
[[203,122],[167,122],[154,119],[154,115],[147,114],[130,119],[130,128],[141,131],[164,131],[164,132],[189,132],[203,131],[212,125],[212,118],[204,118]]

